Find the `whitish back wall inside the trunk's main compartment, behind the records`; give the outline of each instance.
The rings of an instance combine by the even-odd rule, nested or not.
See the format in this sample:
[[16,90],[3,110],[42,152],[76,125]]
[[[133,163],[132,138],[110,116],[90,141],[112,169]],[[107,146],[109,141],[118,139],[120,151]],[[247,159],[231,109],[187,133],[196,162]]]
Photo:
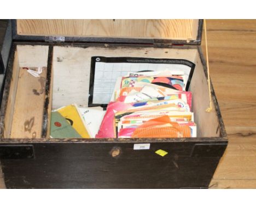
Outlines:
[[188,59],[194,62],[197,50],[153,47],[54,47],[53,108],[77,103],[88,106],[92,56]]

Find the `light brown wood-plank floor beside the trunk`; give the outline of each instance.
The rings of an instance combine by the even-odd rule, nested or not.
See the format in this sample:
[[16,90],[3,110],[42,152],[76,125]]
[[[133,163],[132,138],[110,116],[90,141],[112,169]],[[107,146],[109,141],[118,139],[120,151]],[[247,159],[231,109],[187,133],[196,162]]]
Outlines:
[[211,79],[229,138],[210,187],[256,188],[256,20],[207,20],[207,31]]

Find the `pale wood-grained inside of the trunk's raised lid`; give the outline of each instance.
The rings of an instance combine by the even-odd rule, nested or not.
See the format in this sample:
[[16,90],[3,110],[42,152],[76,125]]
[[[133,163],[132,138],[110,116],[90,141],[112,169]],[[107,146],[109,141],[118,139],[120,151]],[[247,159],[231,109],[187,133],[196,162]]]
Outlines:
[[17,20],[18,35],[196,40],[199,20]]

